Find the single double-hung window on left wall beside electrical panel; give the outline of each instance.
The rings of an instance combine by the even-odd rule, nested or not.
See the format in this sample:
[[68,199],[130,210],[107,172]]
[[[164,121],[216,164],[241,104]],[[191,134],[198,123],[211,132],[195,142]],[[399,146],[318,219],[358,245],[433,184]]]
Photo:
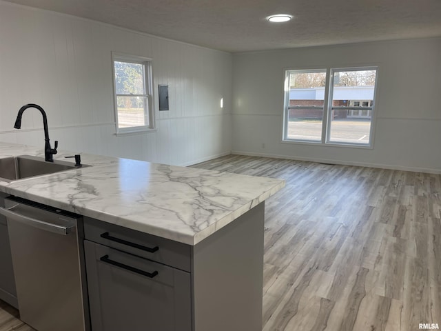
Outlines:
[[113,56],[116,133],[154,128],[151,60]]

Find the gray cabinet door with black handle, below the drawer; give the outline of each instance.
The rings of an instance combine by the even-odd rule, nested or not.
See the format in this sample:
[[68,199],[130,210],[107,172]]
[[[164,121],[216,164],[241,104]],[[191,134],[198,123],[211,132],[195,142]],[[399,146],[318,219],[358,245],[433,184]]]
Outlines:
[[191,330],[188,272],[92,241],[84,248],[92,331]]

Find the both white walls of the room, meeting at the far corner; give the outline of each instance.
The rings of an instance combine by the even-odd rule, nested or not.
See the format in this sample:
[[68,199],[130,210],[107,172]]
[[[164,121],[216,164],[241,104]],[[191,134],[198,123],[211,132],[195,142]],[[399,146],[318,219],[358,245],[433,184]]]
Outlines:
[[[114,135],[112,51],[153,59],[156,132]],[[12,128],[32,102],[60,149],[180,165],[233,150],[441,172],[440,59],[441,39],[232,55],[0,0],[0,141],[43,148],[37,110]],[[285,68],[370,65],[380,67],[373,149],[281,142]],[[164,83],[170,111],[158,112]]]

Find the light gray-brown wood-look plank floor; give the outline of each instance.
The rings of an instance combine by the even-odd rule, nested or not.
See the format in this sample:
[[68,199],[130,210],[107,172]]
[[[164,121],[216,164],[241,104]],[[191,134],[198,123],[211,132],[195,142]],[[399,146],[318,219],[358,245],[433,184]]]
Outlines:
[[[441,328],[441,175],[236,155],[194,167],[287,182],[265,203],[263,331]],[[14,315],[0,301],[0,331],[32,331]]]

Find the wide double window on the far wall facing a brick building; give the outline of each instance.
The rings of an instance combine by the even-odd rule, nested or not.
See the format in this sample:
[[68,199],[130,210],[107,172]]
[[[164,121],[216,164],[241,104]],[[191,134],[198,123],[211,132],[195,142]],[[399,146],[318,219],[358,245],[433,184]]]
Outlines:
[[283,140],[372,146],[377,71],[287,70]]

